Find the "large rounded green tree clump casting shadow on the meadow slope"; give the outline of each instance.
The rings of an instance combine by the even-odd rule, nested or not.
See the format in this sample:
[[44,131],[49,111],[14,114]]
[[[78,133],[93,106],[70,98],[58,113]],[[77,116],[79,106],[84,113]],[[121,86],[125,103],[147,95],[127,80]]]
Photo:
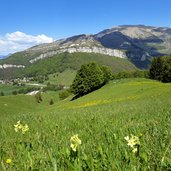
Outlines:
[[99,66],[96,62],[84,64],[78,70],[71,86],[76,97],[88,94],[102,87],[112,78],[112,71],[107,66]]

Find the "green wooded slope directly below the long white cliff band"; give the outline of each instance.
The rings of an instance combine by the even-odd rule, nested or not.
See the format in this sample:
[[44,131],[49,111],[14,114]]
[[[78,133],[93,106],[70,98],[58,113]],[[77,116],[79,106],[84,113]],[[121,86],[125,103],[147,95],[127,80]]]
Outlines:
[[[113,72],[136,69],[136,67],[126,59],[95,53],[63,53],[37,61],[24,69],[18,69],[17,72],[11,72],[11,76],[35,76],[63,72],[66,69],[78,70],[82,64],[92,61],[96,61],[101,65],[110,66]],[[2,74],[0,74],[0,76],[1,75]]]

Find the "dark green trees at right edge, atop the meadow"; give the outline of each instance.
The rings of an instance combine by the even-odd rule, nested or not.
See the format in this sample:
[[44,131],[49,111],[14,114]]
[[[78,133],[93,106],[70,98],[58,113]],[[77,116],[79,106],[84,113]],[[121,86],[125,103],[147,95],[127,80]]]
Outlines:
[[149,70],[149,78],[165,83],[171,82],[171,56],[154,58]]

